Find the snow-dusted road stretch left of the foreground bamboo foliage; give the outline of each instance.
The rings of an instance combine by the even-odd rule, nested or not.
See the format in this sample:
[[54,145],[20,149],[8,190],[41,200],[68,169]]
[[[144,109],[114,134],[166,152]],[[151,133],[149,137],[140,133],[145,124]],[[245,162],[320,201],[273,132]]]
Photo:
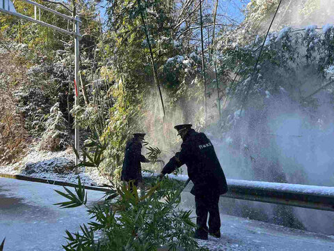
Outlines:
[[[58,185],[0,178],[0,240],[6,237],[4,251],[63,250],[65,229],[78,231],[80,224],[89,221],[84,206],[54,206],[66,200],[54,189],[63,191]],[[97,201],[103,195],[88,190],[88,200]]]

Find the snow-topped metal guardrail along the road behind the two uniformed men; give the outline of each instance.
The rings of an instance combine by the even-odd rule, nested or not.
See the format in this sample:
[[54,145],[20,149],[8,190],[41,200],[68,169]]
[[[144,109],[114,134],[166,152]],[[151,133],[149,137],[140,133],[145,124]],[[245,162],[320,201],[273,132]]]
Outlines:
[[[168,176],[183,182],[188,178],[185,175],[169,174]],[[144,176],[144,179],[145,177],[147,175]],[[334,187],[234,179],[227,179],[227,181],[228,192],[221,197],[334,211]],[[191,190],[193,183],[190,184],[186,186],[184,191]]]

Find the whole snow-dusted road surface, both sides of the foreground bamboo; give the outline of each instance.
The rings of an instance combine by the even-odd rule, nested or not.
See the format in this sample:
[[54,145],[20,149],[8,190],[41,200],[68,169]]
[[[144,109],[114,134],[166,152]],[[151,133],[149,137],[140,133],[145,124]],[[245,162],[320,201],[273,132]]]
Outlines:
[[[62,250],[65,229],[77,231],[89,221],[86,208],[61,209],[54,203],[64,198],[54,192],[60,186],[0,178],[0,241],[4,251]],[[103,192],[88,190],[88,200]],[[210,250],[334,251],[334,236],[325,236],[255,220],[221,215],[221,239],[200,241]]]

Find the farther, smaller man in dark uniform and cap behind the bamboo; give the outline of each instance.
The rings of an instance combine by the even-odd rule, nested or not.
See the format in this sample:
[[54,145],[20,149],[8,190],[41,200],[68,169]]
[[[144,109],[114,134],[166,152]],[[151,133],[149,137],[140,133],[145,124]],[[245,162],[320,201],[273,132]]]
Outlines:
[[141,185],[143,178],[141,176],[141,162],[150,162],[141,154],[145,133],[134,133],[134,137],[129,139],[125,146],[125,156],[122,166],[121,181],[134,181],[134,185]]

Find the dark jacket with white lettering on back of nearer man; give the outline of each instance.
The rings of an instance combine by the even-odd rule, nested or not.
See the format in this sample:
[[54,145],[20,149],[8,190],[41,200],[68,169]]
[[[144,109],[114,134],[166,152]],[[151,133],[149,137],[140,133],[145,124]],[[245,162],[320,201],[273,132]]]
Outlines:
[[170,174],[186,164],[193,181],[193,195],[218,194],[228,191],[225,174],[214,151],[214,146],[202,132],[191,129],[181,145],[181,151],[165,165],[163,174]]

